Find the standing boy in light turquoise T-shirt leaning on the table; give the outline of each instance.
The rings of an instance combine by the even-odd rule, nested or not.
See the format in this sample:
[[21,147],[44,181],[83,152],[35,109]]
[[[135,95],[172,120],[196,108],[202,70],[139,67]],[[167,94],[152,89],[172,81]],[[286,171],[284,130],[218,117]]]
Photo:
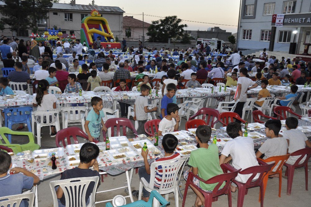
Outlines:
[[99,141],[100,138],[100,125],[103,125],[102,130],[107,132],[107,127],[104,124],[103,117],[103,99],[94,96],[91,99],[91,105],[93,109],[87,114],[86,121],[84,123],[85,132],[88,135],[89,141],[93,142],[93,139]]

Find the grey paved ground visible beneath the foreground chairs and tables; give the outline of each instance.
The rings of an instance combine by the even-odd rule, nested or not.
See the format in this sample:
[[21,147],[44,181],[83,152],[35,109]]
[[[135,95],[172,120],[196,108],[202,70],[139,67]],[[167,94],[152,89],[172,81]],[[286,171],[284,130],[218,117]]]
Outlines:
[[[296,107],[296,113],[301,114],[301,111],[299,108]],[[250,116],[248,117],[248,123],[250,123]],[[179,129],[185,129],[185,119],[182,118],[181,126]],[[62,126],[62,125],[61,125]],[[217,124],[216,128],[219,128],[220,125]],[[17,128],[17,125],[13,126],[13,130]],[[25,129],[24,129],[25,130]],[[42,129],[42,148],[51,148],[55,147],[55,138],[51,138],[49,134],[49,128],[45,127]],[[102,138],[101,138],[102,139]],[[13,143],[18,143],[19,140],[12,137]],[[188,166],[185,166],[185,169],[188,169]],[[285,169],[285,168],[283,168]],[[309,171],[311,170],[311,164],[309,164]],[[284,176],[284,172],[283,172]],[[309,174],[309,178],[311,178]],[[55,176],[50,179],[46,179],[44,181],[41,181],[38,185],[39,189],[39,206],[46,207],[46,206],[53,206],[53,200],[51,195],[51,190],[49,188],[49,182],[53,180],[59,180],[60,175]],[[311,206],[311,179],[309,179],[309,189],[310,191],[305,190],[305,181],[304,181],[304,169],[296,169],[295,175],[294,175],[294,182],[292,187],[292,194],[286,195],[286,187],[287,187],[287,179],[283,178],[283,185],[282,185],[282,191],[281,191],[281,198],[278,197],[278,179],[273,178],[268,180],[267,184],[267,190],[265,194],[265,200],[264,205],[266,207],[287,207],[287,206],[299,206],[299,207],[310,207]],[[118,176],[110,176],[104,177],[104,182],[100,183],[100,186],[98,190],[107,190],[108,188],[111,188],[111,186],[123,186],[126,182],[125,179],[125,173],[120,174]],[[184,185],[184,182],[182,183]],[[139,177],[138,174],[133,175],[132,179],[132,189],[138,190],[139,188]],[[107,200],[112,199],[115,195],[126,195],[124,192],[124,189],[112,191],[109,193],[103,193],[96,195],[96,201],[100,200]],[[232,206],[237,206],[237,197],[238,197],[238,191],[236,193],[232,194]],[[248,195],[244,198],[244,207],[259,207],[260,203],[258,202],[259,198],[259,188],[253,188],[248,190]],[[136,200],[136,199],[134,199]],[[175,206],[174,204],[174,195],[169,195],[169,201],[171,204],[169,206]],[[193,206],[195,201],[195,194],[190,189],[188,190],[187,200],[186,200],[186,207]],[[129,203],[130,200],[127,199],[127,202]],[[179,198],[179,206],[182,204],[182,199]],[[104,203],[98,204],[96,206],[105,206]],[[228,206],[228,199],[226,195],[222,195],[219,197],[218,201],[214,202],[212,204],[213,207],[217,206]]]

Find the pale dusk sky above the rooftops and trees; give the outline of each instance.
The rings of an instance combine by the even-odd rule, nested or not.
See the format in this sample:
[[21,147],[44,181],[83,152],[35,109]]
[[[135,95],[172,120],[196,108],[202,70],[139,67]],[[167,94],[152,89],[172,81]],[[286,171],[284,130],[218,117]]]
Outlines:
[[[70,0],[61,0],[60,3],[69,3]],[[76,4],[89,4],[91,0],[76,0]],[[144,12],[144,21],[151,23],[160,19],[160,17],[176,15],[183,21],[182,24],[187,24],[185,30],[207,30],[209,27],[219,26],[229,32],[237,31],[239,19],[239,0],[171,0],[171,1],[103,1],[95,0],[95,4],[99,6],[114,6],[120,7],[125,11],[124,16],[133,16],[136,19],[142,20],[142,12]],[[163,6],[162,6],[163,5]],[[152,16],[157,17],[152,17]],[[199,23],[204,22],[204,23]],[[214,23],[214,24],[210,24]],[[217,25],[222,24],[222,25]],[[231,25],[231,26],[225,26]]]

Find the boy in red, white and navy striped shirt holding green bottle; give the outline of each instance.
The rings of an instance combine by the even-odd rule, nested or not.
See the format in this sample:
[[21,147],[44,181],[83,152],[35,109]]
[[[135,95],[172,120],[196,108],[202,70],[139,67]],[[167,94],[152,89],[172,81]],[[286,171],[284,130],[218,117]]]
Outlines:
[[[176,146],[178,144],[178,139],[173,134],[165,134],[162,139],[162,147],[164,149],[164,157],[156,158],[155,162],[159,161],[165,161],[165,160],[172,160],[175,158],[179,158],[180,154],[178,152],[174,152],[176,149]],[[145,166],[140,167],[138,170],[139,179],[142,177],[146,179],[146,181],[150,182],[150,165],[148,162],[148,149],[144,151],[142,149],[142,157],[144,158]],[[156,173],[155,173],[155,187],[159,188],[162,181],[162,166],[156,167]],[[138,190],[133,190],[132,195],[138,198]],[[148,202],[150,193],[143,188],[142,189],[142,200]]]

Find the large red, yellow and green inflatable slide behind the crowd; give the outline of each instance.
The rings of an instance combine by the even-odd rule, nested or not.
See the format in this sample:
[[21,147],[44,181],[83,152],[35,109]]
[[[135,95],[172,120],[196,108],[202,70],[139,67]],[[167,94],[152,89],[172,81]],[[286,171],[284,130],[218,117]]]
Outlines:
[[[114,34],[111,32],[108,21],[101,17],[96,9],[91,11],[91,16],[84,17],[81,21],[81,42],[85,41],[87,46],[92,45],[93,40],[100,37],[101,45],[105,48],[121,48],[121,43],[115,42]],[[111,42],[113,40],[114,42]]]

